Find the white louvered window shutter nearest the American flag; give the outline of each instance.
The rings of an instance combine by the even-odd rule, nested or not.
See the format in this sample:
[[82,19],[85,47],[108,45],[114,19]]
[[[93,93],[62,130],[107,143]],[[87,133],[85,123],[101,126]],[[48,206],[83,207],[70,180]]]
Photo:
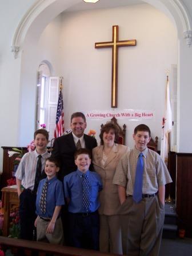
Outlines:
[[59,97],[59,77],[49,78],[49,94],[47,105],[47,131],[49,131],[49,140],[54,138],[57,104]]

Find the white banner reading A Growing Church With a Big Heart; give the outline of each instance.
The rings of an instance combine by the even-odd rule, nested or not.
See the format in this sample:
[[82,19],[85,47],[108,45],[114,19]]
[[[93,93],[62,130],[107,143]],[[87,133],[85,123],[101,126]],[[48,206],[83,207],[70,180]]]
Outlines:
[[92,120],[111,119],[115,117],[116,119],[129,119],[130,121],[137,121],[141,119],[154,118],[154,111],[151,110],[89,110],[83,111],[83,113],[85,114],[86,119]]

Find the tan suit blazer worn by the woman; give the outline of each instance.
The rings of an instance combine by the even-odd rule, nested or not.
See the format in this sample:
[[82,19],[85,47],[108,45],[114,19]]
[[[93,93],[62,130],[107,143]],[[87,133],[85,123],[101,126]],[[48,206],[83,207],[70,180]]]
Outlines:
[[119,160],[129,151],[127,146],[115,144],[110,151],[105,165],[102,165],[103,145],[93,149],[93,165],[95,171],[101,176],[103,189],[99,193],[101,206],[99,214],[115,215],[120,206],[117,185],[113,184],[115,169]]

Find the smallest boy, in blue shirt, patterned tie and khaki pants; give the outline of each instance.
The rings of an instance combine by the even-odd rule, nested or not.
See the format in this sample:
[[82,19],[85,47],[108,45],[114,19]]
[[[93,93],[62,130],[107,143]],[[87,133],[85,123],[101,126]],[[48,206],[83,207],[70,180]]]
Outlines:
[[56,177],[59,171],[58,161],[49,157],[45,162],[47,178],[39,182],[36,200],[35,227],[37,241],[55,244],[63,243],[63,228],[60,217],[61,206],[65,204],[63,185]]

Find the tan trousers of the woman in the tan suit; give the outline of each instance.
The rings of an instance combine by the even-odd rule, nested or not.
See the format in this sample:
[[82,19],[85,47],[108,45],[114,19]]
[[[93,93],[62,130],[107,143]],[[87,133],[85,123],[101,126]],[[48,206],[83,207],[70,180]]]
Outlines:
[[99,215],[99,247],[104,253],[122,254],[121,225],[119,215]]

